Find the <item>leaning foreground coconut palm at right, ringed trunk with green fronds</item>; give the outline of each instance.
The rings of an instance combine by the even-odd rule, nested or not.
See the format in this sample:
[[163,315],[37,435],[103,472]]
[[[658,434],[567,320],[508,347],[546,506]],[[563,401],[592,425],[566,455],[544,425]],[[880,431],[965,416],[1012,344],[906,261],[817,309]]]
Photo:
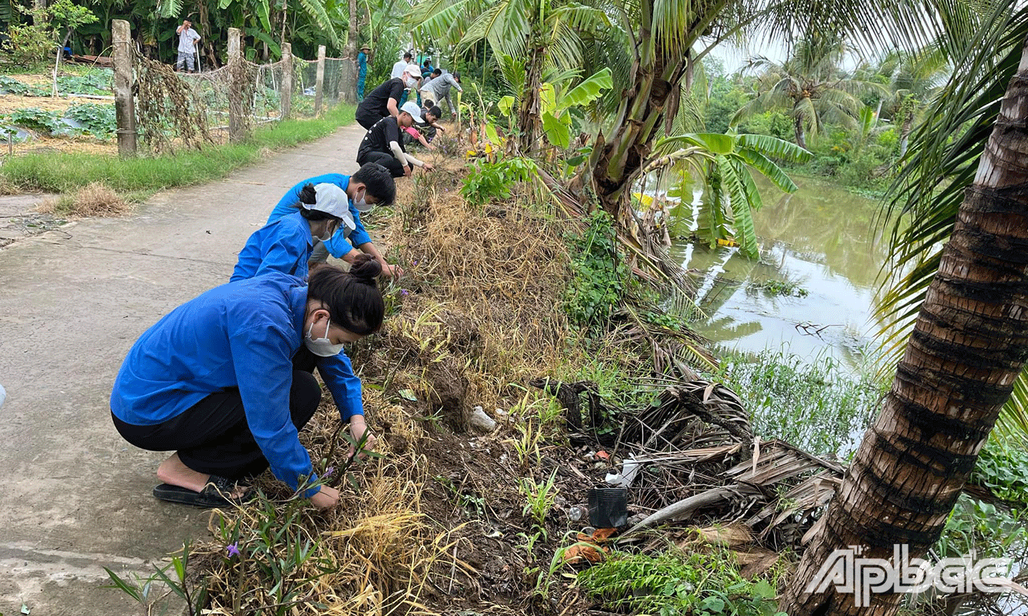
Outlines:
[[959,43],[961,70],[915,134],[898,190],[910,226],[893,235],[910,273],[886,297],[913,328],[881,414],[782,599],[792,616],[896,612],[902,594],[872,594],[857,608],[851,592],[810,583],[846,546],[866,546],[864,559],[890,560],[895,544],[924,554],[1028,358],[1028,9],[997,5],[986,24]]

